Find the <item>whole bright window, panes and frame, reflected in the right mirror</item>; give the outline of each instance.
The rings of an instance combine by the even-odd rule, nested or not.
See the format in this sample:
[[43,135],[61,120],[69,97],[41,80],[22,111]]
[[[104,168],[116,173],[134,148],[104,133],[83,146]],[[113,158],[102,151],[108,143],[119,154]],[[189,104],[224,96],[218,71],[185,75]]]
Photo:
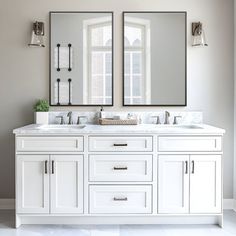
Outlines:
[[125,104],[150,103],[150,20],[125,18]]

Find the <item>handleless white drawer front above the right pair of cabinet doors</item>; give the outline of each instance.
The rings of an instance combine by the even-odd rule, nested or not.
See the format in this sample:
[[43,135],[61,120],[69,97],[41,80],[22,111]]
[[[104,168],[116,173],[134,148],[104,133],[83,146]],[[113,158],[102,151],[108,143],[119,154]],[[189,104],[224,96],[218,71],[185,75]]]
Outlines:
[[159,137],[159,151],[221,151],[221,137]]

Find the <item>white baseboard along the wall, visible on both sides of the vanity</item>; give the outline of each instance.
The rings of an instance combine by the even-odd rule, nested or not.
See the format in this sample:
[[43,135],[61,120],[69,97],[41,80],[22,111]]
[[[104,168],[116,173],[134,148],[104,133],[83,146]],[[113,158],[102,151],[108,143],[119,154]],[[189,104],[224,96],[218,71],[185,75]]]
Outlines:
[[[223,200],[224,210],[236,211],[236,200],[235,199],[224,199]],[[0,199],[0,210],[13,210],[15,209],[15,199]]]

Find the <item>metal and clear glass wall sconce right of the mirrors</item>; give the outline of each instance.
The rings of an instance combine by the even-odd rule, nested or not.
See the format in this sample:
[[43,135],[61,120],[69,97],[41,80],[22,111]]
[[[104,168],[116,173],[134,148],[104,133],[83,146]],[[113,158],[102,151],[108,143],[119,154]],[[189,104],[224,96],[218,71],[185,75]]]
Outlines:
[[205,32],[202,28],[201,22],[194,22],[192,23],[192,36],[193,36],[193,43],[192,46],[208,46],[206,43]]

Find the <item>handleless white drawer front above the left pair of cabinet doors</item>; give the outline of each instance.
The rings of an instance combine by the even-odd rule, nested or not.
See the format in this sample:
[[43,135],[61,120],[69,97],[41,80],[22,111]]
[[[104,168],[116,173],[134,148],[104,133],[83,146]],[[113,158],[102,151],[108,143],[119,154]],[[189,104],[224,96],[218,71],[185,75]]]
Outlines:
[[17,137],[17,151],[83,151],[83,137]]

